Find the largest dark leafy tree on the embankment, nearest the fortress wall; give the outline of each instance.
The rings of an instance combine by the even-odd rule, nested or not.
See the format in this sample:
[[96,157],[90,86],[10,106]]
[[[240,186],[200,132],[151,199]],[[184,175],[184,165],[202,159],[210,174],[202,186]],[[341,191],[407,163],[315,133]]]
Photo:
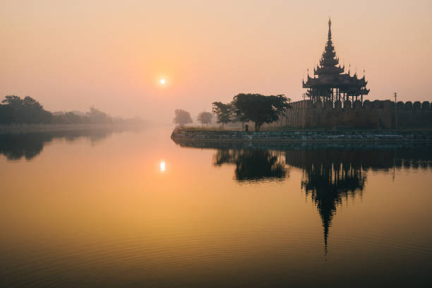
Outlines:
[[264,96],[260,94],[244,94],[234,96],[234,113],[244,121],[255,122],[255,131],[259,131],[264,123],[272,123],[283,116],[289,108],[291,100],[284,95]]

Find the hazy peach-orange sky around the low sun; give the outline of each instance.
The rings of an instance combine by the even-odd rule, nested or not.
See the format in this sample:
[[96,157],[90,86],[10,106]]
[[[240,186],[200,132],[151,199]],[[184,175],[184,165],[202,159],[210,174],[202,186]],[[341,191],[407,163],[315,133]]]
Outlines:
[[0,97],[164,122],[239,92],[300,100],[331,16],[366,99],[431,101],[431,14],[431,0],[1,1]]

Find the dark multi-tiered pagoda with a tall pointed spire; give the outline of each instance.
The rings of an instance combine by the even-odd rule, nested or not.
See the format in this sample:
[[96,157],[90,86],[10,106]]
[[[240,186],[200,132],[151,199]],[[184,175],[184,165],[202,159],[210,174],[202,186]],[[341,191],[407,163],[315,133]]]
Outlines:
[[303,80],[303,88],[308,89],[306,92],[307,97],[315,103],[322,102],[335,102],[360,100],[363,102],[363,95],[368,95],[369,90],[366,89],[368,83],[363,78],[358,78],[356,73],[351,76],[344,73],[344,66],[340,66],[339,58],[336,57],[335,47],[332,43],[332,21],[328,20],[328,40],[325,45],[323,56],[320,59],[320,65],[313,68],[313,78],[309,76],[305,81]]

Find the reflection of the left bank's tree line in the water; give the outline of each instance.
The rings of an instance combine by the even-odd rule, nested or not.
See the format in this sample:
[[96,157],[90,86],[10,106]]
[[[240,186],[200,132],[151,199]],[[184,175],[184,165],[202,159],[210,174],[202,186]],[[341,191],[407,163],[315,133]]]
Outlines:
[[64,138],[66,141],[75,141],[79,138],[87,138],[92,144],[95,144],[117,131],[124,131],[124,128],[106,127],[71,131],[0,134],[0,154],[5,155],[7,160],[20,160],[23,157],[26,160],[31,160],[40,154],[46,143],[52,142],[54,139]]

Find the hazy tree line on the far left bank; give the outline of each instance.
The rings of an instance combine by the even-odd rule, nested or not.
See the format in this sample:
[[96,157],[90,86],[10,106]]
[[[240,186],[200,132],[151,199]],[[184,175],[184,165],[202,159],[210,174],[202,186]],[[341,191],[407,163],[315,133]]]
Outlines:
[[53,114],[32,97],[7,95],[0,104],[0,124],[138,124],[140,119],[118,119],[90,107],[90,112]]

